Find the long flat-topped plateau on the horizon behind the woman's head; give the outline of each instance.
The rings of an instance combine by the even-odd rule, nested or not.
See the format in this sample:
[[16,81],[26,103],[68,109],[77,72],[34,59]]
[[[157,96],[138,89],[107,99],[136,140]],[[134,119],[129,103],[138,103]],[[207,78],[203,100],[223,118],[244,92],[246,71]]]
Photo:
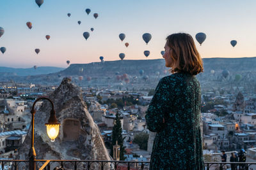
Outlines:
[[[204,73],[211,73],[213,69],[216,73],[221,73],[224,69],[230,73],[241,73],[246,71],[256,71],[256,57],[244,58],[210,58],[204,60]],[[83,69],[83,71],[81,71]],[[164,70],[169,68],[164,66],[164,59],[155,60],[115,60],[92,62],[89,64],[70,64],[67,69],[60,71],[65,76],[73,75],[95,75],[112,76],[116,72],[120,74],[139,75],[140,69],[143,69],[145,75],[156,74],[159,71],[163,74]]]

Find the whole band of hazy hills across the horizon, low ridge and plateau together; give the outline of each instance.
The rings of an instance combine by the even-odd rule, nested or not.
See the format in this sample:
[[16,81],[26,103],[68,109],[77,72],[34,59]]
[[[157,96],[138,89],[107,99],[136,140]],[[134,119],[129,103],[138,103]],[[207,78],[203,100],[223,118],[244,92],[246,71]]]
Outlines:
[[[256,80],[256,57],[210,58],[203,60],[204,73],[198,75],[200,81],[221,81],[221,78],[223,78],[221,72],[224,69],[230,72],[228,81],[234,80],[236,74],[241,74],[243,81]],[[52,67],[39,67],[36,70],[30,68],[26,73],[22,74],[22,76],[29,74],[29,76],[25,77],[19,76],[21,73],[18,70],[15,72],[17,75],[0,73],[0,80],[58,85],[65,76],[70,76],[72,77],[72,81],[79,84],[106,86],[115,83],[125,83],[124,81],[117,80],[116,76],[126,73],[131,84],[136,85],[140,83],[143,85],[143,83],[145,84],[143,76],[148,76],[147,85],[154,87],[159,81],[159,78],[169,74],[167,72],[169,68],[164,66],[164,59],[115,60],[92,62],[89,64],[70,64],[66,69],[50,68]],[[40,74],[39,71],[41,69],[42,72]],[[142,76],[140,75],[141,69],[144,71]],[[211,74],[211,70],[214,70],[214,74]],[[24,69],[21,71],[24,71]],[[79,76],[83,76],[83,80],[79,80]],[[86,80],[89,76],[92,79],[91,81]]]

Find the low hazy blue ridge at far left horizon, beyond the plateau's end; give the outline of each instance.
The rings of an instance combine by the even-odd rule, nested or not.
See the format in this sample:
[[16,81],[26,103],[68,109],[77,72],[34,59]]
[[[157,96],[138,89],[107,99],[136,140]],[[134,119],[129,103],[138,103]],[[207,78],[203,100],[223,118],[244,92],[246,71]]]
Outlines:
[[39,74],[56,73],[65,68],[61,67],[37,67],[32,68],[12,68],[12,67],[0,67],[0,74],[5,76],[33,76]]

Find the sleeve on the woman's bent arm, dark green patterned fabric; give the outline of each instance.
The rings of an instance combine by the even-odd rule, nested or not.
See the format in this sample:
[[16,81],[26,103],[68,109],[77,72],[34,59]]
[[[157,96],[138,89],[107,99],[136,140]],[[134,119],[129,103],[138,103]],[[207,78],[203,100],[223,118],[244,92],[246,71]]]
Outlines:
[[154,97],[145,115],[149,131],[160,132],[163,129],[164,114],[168,112],[168,105],[171,102],[170,93],[170,82],[162,78],[156,87]]

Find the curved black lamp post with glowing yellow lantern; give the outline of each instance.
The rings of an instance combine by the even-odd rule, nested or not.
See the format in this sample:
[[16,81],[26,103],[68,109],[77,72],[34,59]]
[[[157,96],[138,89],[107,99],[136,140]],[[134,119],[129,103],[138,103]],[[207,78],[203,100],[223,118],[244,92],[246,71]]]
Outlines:
[[47,134],[48,134],[49,138],[51,138],[52,142],[58,136],[59,129],[60,129],[60,124],[58,123],[58,120],[56,118],[52,101],[50,99],[48,99],[47,97],[40,97],[40,98],[36,99],[36,101],[33,103],[32,109],[30,111],[32,118],[31,118],[31,148],[29,150],[29,170],[36,169],[36,162],[35,162],[36,152],[35,152],[35,148],[34,148],[34,122],[35,122],[35,113],[36,113],[35,104],[36,104],[36,102],[43,100],[43,99],[49,101],[52,105],[50,118],[48,120],[48,123],[45,124],[46,129],[47,129]]

